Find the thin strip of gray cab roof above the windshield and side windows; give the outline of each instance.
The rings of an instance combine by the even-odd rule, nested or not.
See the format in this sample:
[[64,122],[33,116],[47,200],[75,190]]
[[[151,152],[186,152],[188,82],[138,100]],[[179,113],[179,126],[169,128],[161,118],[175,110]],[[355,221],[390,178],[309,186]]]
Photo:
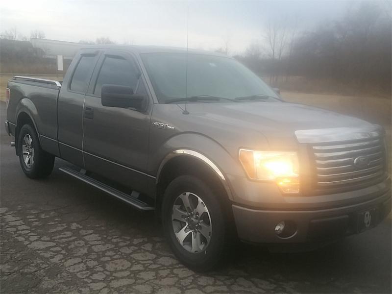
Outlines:
[[[122,51],[131,51],[139,54],[142,53],[185,53],[187,51],[186,48],[178,48],[178,47],[162,47],[162,46],[134,46],[134,45],[86,45],[83,49],[117,49]],[[206,54],[206,55],[216,55],[222,57],[229,57],[225,54],[199,50],[199,49],[188,49],[188,53],[193,54]]]

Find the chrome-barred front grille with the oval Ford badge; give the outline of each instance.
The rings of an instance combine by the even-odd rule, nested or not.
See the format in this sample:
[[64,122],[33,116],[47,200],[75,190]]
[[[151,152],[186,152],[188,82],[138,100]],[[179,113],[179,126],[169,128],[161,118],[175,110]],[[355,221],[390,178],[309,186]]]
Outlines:
[[385,147],[381,137],[314,143],[311,147],[317,174],[314,184],[320,193],[356,190],[385,176]]

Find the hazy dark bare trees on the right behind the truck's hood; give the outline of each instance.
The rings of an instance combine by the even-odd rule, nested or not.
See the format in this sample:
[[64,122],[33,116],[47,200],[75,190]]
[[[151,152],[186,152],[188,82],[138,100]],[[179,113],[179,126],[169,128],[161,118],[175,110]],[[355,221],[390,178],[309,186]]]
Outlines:
[[269,22],[263,42],[235,57],[269,75],[272,84],[278,77],[302,76],[391,93],[391,3],[381,4],[363,2],[313,31],[298,32],[295,22]]

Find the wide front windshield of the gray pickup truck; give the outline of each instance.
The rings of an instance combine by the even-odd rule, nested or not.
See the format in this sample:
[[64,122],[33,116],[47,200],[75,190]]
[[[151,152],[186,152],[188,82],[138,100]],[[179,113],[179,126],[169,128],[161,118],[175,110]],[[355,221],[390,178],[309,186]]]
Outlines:
[[221,99],[194,99],[194,102],[230,102],[228,99],[241,98],[238,102],[245,101],[245,97],[249,97],[247,101],[279,101],[266,83],[235,59],[189,53],[187,66],[185,52],[141,55],[160,103],[208,96]]

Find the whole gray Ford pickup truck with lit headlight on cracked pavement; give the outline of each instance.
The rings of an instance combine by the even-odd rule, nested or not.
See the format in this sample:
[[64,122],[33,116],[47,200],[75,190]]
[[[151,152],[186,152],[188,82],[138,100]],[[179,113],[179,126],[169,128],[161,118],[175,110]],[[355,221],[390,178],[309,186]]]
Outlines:
[[60,170],[155,210],[194,270],[236,240],[318,246],[391,210],[382,127],[284,102],[218,53],[89,47],[62,83],[15,76],[7,92],[5,127],[28,177],[71,162]]

